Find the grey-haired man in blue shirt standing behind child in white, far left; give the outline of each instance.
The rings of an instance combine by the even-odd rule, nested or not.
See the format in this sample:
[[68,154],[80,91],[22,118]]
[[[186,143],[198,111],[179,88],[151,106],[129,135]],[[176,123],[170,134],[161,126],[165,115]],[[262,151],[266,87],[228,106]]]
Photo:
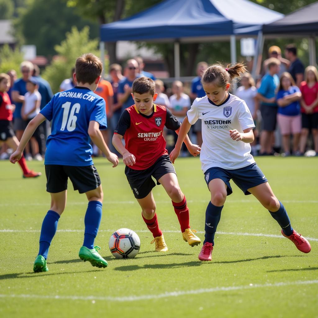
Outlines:
[[24,95],[27,92],[26,82],[31,78],[33,72],[33,64],[29,61],[24,61],[20,64],[20,70],[22,77],[14,82],[12,87],[12,102],[16,105],[16,109],[13,113],[14,130],[16,132],[17,139],[20,141],[26,127],[25,121],[21,117],[21,108],[24,101]]

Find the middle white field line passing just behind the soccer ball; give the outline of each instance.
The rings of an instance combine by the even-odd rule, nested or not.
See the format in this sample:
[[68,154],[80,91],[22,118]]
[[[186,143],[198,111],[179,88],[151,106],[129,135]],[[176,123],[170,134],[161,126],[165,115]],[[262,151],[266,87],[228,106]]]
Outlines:
[[[114,230],[99,230],[98,232],[113,232]],[[10,230],[10,229],[2,229],[0,230],[1,232],[7,232],[7,233],[25,233],[25,232],[30,232],[30,233],[39,233],[41,232],[40,230]],[[57,232],[84,232],[84,230],[70,230],[70,229],[65,229],[65,230],[57,230]],[[135,231],[136,233],[138,232],[149,232],[148,230],[138,230]],[[180,231],[174,231],[174,230],[163,230],[162,232],[164,233],[180,233]],[[203,231],[197,231],[197,233],[204,234]],[[260,236],[260,237],[269,237],[269,238],[278,238],[278,239],[284,239],[282,235],[277,235],[277,234],[264,234],[264,233],[244,233],[244,232],[216,232],[216,234],[225,234],[225,235],[237,235],[237,236]],[[306,239],[310,241],[316,241],[318,242],[318,239],[316,238],[308,238]]]

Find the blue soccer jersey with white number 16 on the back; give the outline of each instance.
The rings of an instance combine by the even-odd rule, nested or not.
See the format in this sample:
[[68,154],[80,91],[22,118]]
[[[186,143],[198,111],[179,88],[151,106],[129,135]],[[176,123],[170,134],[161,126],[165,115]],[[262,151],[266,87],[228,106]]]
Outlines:
[[97,121],[107,128],[105,100],[86,87],[76,86],[57,93],[40,112],[52,121],[46,141],[45,164],[90,166],[92,146],[88,125]]

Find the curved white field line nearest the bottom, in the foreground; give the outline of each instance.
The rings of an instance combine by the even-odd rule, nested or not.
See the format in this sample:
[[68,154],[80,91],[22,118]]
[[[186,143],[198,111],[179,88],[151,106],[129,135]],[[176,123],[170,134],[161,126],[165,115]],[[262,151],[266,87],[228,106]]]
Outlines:
[[227,286],[227,287],[212,287],[212,288],[200,288],[185,291],[174,291],[166,292],[163,294],[152,294],[152,295],[140,295],[140,296],[122,296],[122,297],[112,297],[112,296],[76,296],[76,295],[32,295],[32,294],[0,294],[0,298],[31,298],[31,299],[55,299],[55,300],[81,300],[81,301],[143,301],[159,298],[169,298],[178,297],[184,295],[197,295],[204,293],[218,293],[218,292],[231,292],[236,290],[249,290],[255,288],[267,288],[267,287],[285,287],[293,285],[312,285],[318,284],[318,280],[298,280],[292,282],[279,282],[279,283],[267,283],[267,284],[249,284],[243,286]]

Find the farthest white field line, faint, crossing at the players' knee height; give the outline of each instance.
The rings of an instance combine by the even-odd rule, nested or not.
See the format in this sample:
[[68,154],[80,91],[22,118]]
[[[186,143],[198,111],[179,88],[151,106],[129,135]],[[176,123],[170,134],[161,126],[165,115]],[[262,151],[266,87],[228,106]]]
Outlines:
[[[318,203],[318,200],[281,200],[283,203]],[[206,200],[187,200],[188,203],[208,203],[209,199]],[[228,200],[226,201],[227,204],[229,203],[255,203],[257,202],[256,199],[254,200]],[[171,201],[168,200],[156,200],[156,203],[163,204],[163,203],[169,203],[171,204]],[[137,201],[104,201],[103,204],[137,204]],[[49,202],[47,203],[37,203],[37,202],[30,202],[30,203],[0,203],[1,206],[48,206]],[[87,205],[87,202],[69,202],[66,205]]]

